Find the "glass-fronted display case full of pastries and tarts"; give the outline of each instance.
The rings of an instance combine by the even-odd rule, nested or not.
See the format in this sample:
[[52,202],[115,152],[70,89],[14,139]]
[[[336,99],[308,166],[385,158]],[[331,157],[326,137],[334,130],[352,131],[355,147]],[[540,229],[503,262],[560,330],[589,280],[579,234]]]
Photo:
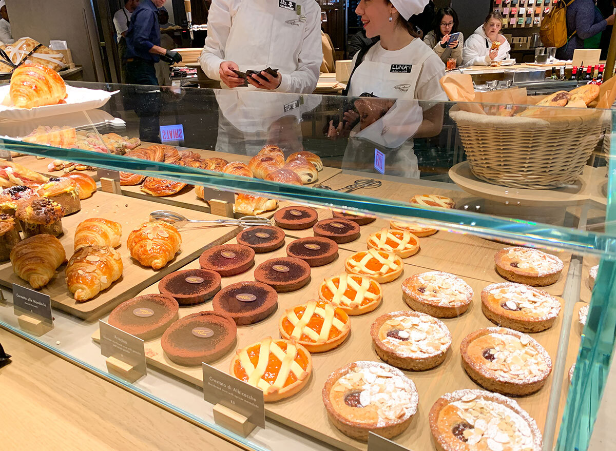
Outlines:
[[616,323],[609,110],[533,107],[532,136],[596,121],[541,184],[527,169],[562,158],[524,161],[506,105],[474,105],[471,143],[451,102],[73,87],[110,99],[0,112],[3,328],[244,449],[588,447]]

